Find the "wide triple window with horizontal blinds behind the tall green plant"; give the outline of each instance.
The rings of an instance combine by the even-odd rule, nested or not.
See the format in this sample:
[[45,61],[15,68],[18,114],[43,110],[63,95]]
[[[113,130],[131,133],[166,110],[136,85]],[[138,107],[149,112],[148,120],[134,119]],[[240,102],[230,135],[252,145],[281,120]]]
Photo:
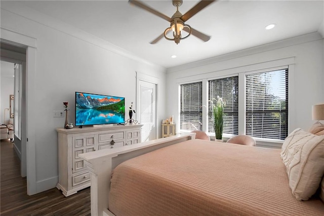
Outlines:
[[220,96],[226,102],[225,138],[247,134],[263,139],[264,143],[269,139],[271,142],[284,140],[289,133],[288,71],[288,66],[268,71],[241,71],[230,77],[204,78],[201,82],[180,85],[180,130],[203,130],[213,136],[211,101]]

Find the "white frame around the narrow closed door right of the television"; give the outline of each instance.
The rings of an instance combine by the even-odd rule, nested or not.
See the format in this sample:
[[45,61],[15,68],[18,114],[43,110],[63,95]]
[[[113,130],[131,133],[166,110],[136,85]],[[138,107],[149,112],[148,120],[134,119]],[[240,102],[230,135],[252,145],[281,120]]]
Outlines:
[[152,83],[152,84],[155,84],[155,124],[156,124],[156,127],[155,127],[155,133],[156,133],[156,139],[160,138],[160,133],[158,131],[161,130],[160,128],[160,124],[158,124],[158,121],[157,121],[157,114],[158,114],[158,86],[159,86],[159,79],[156,78],[156,77],[152,77],[152,76],[149,76],[149,75],[146,75],[146,74],[142,74],[142,73],[138,73],[136,72],[136,110],[140,110],[140,104],[139,104],[139,98],[140,98],[140,84],[139,82],[140,81],[144,81],[144,82],[147,82],[147,83]]

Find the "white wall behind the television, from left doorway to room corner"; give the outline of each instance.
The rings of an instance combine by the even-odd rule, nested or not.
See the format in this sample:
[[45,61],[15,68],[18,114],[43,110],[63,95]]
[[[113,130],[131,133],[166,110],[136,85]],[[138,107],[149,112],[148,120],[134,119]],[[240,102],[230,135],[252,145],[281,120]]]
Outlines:
[[[9,10],[16,9],[17,13],[25,12],[9,7]],[[138,71],[155,77],[159,82],[160,122],[166,104],[166,69],[127,57],[129,54],[109,51],[109,44],[64,23],[57,23],[51,18],[38,19],[34,13],[29,15],[35,16],[37,22],[33,21],[32,17],[27,19],[9,12],[8,9],[2,9],[1,27],[36,39],[33,86],[36,114],[36,192],[42,192],[54,188],[58,181],[58,145],[55,129],[63,127],[65,119],[53,118],[52,112],[63,110],[63,101],[69,102],[68,121],[72,123],[75,122],[75,91],[123,96],[128,106],[131,101],[136,101]],[[41,24],[43,21],[46,24]],[[69,32],[65,33],[63,28]]]

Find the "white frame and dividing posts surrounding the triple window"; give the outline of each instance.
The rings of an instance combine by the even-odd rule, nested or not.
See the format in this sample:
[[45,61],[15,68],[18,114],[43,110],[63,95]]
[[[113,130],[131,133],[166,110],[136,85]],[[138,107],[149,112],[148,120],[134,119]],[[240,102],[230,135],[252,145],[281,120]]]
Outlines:
[[[272,71],[276,69],[288,69],[288,94],[289,94],[289,102],[288,102],[288,131],[291,132],[291,128],[294,128],[294,126],[297,124],[296,119],[294,116],[296,116],[296,111],[292,109],[291,104],[295,103],[295,85],[294,85],[294,70],[295,70],[295,58],[294,57],[287,57],[277,60],[269,60],[249,65],[240,65],[235,67],[229,67],[229,68],[223,68],[217,71],[210,71],[205,72],[202,74],[194,75],[191,77],[180,77],[176,78],[176,83],[179,87],[179,99],[178,99],[178,122],[180,122],[180,84],[183,83],[193,83],[197,81],[203,81],[203,107],[205,106],[205,109],[203,109],[203,131],[208,130],[208,80],[214,80],[214,79],[220,79],[224,77],[232,77],[235,75],[238,75],[238,92],[239,92],[239,98],[238,98],[238,134],[245,134],[245,75],[246,74],[252,74],[252,73],[260,73],[260,72],[266,72],[266,71]],[[205,92],[205,95],[204,95]],[[179,132],[188,132],[180,130],[179,125],[176,125],[176,130]],[[209,133],[211,138],[213,139],[215,137],[214,133]],[[223,139],[227,140],[231,136],[228,136],[226,134],[223,134]],[[281,145],[283,143],[283,140],[279,139],[267,139],[267,138],[255,138],[257,140],[257,145],[260,147],[270,147],[270,148],[281,148]]]

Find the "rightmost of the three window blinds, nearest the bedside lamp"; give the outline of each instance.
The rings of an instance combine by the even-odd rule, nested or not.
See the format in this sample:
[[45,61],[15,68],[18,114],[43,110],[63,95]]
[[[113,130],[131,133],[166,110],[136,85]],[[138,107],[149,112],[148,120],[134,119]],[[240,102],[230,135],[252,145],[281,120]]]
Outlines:
[[246,75],[246,134],[288,136],[288,68]]

